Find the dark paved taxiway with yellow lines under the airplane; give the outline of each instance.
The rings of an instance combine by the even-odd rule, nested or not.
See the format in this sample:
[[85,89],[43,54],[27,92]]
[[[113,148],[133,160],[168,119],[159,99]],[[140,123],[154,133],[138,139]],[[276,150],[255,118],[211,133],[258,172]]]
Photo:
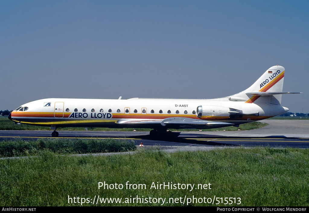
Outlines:
[[[270,146],[309,148],[309,120],[264,120],[267,127],[248,131],[178,132],[175,137],[150,137],[149,132],[59,131],[59,138],[108,138],[141,142],[144,146]],[[0,131],[0,140],[51,138],[52,131]],[[178,137],[176,137],[178,135]]]

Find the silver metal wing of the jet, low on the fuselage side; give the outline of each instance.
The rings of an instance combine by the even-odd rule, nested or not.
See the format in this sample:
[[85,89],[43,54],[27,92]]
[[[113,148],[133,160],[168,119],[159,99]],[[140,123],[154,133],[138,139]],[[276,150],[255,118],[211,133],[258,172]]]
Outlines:
[[149,126],[161,125],[165,128],[220,128],[235,124],[219,121],[207,121],[192,118],[173,117],[163,120],[119,120],[118,124],[148,124]]

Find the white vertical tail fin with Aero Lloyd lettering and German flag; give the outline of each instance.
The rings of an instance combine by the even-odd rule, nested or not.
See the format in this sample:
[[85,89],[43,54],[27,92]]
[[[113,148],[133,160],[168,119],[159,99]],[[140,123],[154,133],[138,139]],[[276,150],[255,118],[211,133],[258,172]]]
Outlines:
[[253,103],[261,96],[261,103],[281,104],[284,67],[270,67],[264,74],[248,89],[229,97],[231,101],[244,101]]

